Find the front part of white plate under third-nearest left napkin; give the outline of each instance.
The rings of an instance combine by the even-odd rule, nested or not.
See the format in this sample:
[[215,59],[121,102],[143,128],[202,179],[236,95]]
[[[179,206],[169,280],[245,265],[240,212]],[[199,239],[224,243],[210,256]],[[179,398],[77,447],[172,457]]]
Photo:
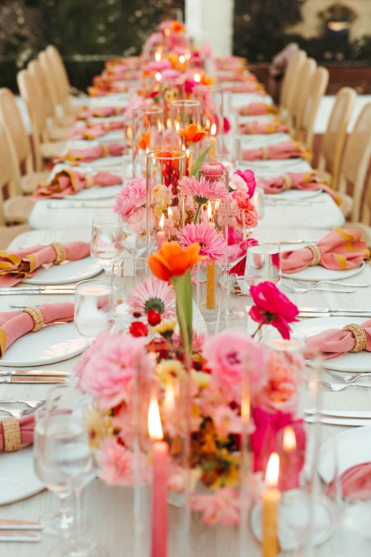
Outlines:
[[95,277],[102,271],[102,267],[96,262],[91,255],[78,259],[77,261],[68,261],[62,265],[52,265],[51,267],[42,267],[34,277],[25,278],[23,282],[27,284],[68,284],[69,282],[78,282],[86,278]]

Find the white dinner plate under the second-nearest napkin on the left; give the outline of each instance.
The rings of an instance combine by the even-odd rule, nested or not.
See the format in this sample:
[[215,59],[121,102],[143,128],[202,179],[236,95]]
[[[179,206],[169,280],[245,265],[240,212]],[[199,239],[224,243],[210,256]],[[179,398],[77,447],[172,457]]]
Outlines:
[[31,367],[55,364],[78,356],[87,348],[87,341],[76,333],[73,321],[46,325],[36,333],[26,333],[14,340],[3,355],[1,365]]

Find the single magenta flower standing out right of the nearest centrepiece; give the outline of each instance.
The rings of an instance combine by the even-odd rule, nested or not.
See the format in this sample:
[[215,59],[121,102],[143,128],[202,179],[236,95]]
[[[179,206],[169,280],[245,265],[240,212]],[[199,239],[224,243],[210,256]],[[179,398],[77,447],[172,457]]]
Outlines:
[[251,319],[256,323],[267,323],[278,329],[282,338],[290,339],[289,323],[295,319],[299,310],[290,300],[278,290],[273,282],[261,282],[258,286],[250,286],[250,295],[255,306],[250,309]]

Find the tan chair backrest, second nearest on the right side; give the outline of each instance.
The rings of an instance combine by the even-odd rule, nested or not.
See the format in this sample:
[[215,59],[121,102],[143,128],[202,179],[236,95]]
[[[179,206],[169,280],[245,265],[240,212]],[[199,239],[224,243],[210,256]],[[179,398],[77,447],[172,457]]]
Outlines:
[[342,87],[338,91],[327,130],[321,142],[319,168],[325,170],[326,164],[330,163],[332,187],[334,189],[337,188],[340,160],[347,135],[347,125],[350,115],[352,115],[356,96],[357,93],[352,87]]

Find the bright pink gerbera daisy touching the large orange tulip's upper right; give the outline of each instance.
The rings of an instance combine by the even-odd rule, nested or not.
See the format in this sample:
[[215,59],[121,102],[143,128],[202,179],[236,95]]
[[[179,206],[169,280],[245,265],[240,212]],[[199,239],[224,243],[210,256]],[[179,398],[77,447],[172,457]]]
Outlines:
[[[215,230],[214,226],[209,223],[187,224],[178,234],[179,243],[183,246],[189,246],[191,243],[198,242],[201,246],[200,255],[204,255],[206,259],[203,265],[212,261],[222,261],[226,255],[226,241],[224,236]],[[201,265],[202,265],[201,263]]]

